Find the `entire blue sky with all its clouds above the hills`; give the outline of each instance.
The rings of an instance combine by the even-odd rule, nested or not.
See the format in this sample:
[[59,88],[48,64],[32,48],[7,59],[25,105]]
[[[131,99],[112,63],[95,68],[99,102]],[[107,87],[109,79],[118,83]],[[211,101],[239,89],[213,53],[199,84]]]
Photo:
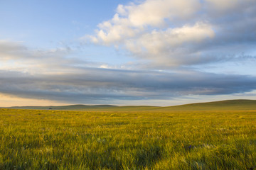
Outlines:
[[0,106],[256,99],[255,0],[1,0]]

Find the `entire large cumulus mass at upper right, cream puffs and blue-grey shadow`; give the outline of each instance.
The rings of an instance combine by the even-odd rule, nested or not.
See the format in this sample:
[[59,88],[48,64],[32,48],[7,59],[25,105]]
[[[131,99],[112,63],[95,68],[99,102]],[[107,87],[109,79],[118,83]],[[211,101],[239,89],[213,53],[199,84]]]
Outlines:
[[[162,67],[207,64],[221,58],[225,62],[235,54],[253,55],[255,11],[254,0],[146,0],[117,6],[113,18],[86,38],[123,47],[132,56]],[[238,44],[244,48],[223,50]],[[218,55],[211,54],[212,49]]]

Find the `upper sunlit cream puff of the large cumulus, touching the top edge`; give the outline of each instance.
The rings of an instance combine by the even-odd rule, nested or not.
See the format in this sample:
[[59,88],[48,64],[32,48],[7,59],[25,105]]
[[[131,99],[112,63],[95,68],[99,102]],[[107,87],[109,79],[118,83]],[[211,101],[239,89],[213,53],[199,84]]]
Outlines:
[[144,33],[148,27],[163,27],[166,19],[191,18],[199,7],[197,0],[146,0],[142,4],[119,5],[113,18],[100,23],[97,35],[90,38],[92,42],[104,45],[122,42]]

